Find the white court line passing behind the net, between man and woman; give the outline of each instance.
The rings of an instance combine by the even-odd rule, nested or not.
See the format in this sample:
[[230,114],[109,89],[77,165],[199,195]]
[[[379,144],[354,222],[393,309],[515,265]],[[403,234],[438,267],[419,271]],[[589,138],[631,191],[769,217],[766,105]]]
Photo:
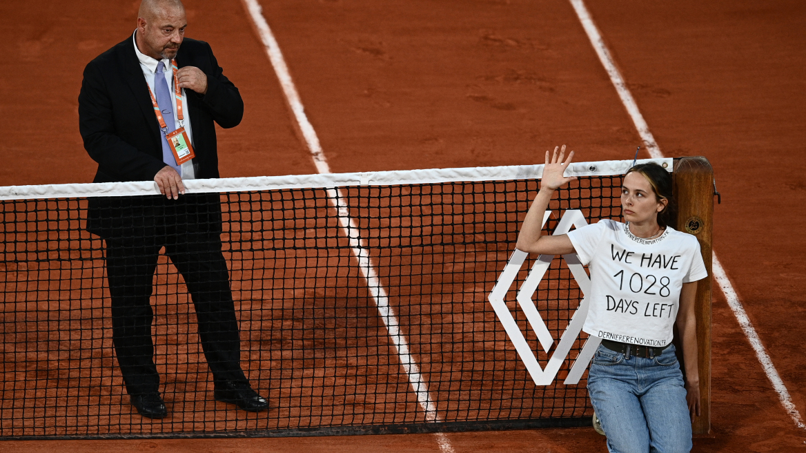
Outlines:
[[[305,108],[302,106],[297,88],[291,79],[288,66],[285,64],[280,46],[272,34],[272,30],[268,27],[268,23],[264,18],[263,11],[258,4],[257,0],[243,0],[244,6],[252,19],[252,22],[257,27],[260,33],[260,39],[266,48],[269,60],[272,62],[272,67],[280,80],[280,86],[285,94],[286,101],[293,112],[294,118],[297,120],[297,125],[300,128],[305,144],[310,150],[311,156],[314,158],[316,169],[320,173],[330,173],[330,166],[327,164],[324,153],[322,152],[322,145],[319,143],[319,138],[314,131],[313,125],[308,121],[305,115]],[[372,300],[378,308],[380,318],[383,319],[384,325],[388,331],[389,337],[392,339],[393,347],[397,351],[397,357],[400,359],[401,367],[409,377],[409,384],[417,395],[417,400],[420,407],[426,413],[426,421],[438,422],[439,417],[437,414],[437,407],[434,399],[428,392],[428,384],[423,380],[417,362],[409,353],[409,344],[406,342],[405,337],[401,334],[400,323],[397,320],[397,314],[391,305],[389,305],[386,289],[381,285],[380,278],[375,266],[372,265],[372,259],[369,256],[366,241],[359,236],[359,225],[349,215],[349,206],[344,201],[344,196],[339,189],[328,189],[327,195],[330,202],[336,208],[339,215],[339,225],[342,227],[344,235],[347,236],[352,248],[353,254],[358,259],[359,269],[367,280],[368,289],[372,295]],[[439,448],[444,453],[453,453],[453,447],[447,436],[442,433],[435,433]]]

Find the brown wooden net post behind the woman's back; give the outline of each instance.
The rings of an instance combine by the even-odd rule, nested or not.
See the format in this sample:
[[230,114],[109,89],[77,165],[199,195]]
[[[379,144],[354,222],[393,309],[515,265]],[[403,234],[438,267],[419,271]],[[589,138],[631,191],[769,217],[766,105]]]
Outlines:
[[677,231],[700,241],[708,278],[699,281],[696,296],[697,346],[700,361],[700,417],[694,418],[694,434],[711,430],[711,264],[713,233],[713,168],[704,157],[675,159],[674,197],[677,203]]

